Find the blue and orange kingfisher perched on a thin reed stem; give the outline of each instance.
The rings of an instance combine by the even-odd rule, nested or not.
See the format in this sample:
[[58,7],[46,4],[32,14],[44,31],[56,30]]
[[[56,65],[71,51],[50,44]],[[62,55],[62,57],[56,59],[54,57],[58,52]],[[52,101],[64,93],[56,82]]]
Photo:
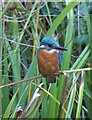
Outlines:
[[44,37],[40,42],[38,50],[38,69],[41,75],[52,83],[56,78],[54,73],[59,72],[62,67],[63,51],[66,48],[60,46],[58,41],[52,37]]

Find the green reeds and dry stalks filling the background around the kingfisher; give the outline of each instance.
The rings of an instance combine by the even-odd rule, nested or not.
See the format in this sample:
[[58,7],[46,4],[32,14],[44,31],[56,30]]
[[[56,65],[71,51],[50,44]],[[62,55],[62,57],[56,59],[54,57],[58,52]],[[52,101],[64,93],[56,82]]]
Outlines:
[[[0,3],[0,118],[91,118],[92,4],[80,2]],[[37,53],[57,34],[64,75],[47,91]]]

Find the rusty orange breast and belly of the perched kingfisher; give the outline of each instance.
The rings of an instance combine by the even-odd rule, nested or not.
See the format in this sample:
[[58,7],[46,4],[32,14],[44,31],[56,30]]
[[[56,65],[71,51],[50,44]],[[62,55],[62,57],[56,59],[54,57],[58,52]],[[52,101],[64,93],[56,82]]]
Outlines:
[[38,68],[43,76],[52,75],[59,71],[58,54],[56,51],[49,52],[40,50],[38,52]]

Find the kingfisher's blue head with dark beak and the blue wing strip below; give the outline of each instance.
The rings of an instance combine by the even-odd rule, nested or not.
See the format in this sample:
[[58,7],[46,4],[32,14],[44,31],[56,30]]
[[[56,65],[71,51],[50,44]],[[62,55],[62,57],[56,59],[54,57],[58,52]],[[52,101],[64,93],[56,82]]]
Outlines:
[[44,37],[40,43],[40,49],[56,50],[58,52],[58,59],[59,59],[59,68],[62,66],[62,57],[63,54],[61,51],[67,50],[66,48],[59,45],[59,43],[51,37]]

